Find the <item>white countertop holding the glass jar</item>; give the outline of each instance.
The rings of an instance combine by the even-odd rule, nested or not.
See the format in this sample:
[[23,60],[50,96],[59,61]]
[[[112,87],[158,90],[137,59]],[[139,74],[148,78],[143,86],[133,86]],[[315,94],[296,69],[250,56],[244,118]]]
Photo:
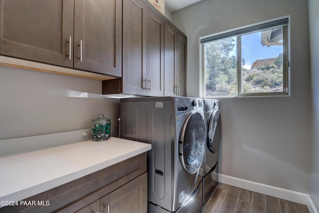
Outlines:
[[0,157],[0,201],[26,199],[149,150],[150,144],[112,137]]

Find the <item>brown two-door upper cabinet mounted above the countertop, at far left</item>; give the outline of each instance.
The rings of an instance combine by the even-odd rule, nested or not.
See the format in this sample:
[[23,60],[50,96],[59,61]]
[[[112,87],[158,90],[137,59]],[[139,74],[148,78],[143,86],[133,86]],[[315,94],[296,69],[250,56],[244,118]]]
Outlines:
[[0,54],[122,76],[122,0],[0,0]]

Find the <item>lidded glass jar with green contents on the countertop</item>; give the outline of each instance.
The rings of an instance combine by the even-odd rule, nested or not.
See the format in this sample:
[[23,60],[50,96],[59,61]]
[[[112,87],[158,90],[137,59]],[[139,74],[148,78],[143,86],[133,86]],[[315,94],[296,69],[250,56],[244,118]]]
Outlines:
[[105,118],[103,114],[92,119],[92,141],[106,141],[111,138],[111,119]]

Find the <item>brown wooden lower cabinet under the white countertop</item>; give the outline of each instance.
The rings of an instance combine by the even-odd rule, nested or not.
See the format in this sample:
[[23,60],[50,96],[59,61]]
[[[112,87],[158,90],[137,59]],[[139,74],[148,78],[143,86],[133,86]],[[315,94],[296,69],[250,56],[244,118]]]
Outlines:
[[147,199],[143,153],[23,200],[34,206],[3,207],[0,213],[147,213]]

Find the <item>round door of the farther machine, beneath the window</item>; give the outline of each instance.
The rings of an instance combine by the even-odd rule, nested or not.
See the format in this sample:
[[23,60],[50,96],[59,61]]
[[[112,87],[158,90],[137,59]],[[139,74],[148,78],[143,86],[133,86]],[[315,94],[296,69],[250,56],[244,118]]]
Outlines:
[[221,118],[218,109],[213,110],[207,124],[207,147],[212,153],[219,150],[221,139]]

